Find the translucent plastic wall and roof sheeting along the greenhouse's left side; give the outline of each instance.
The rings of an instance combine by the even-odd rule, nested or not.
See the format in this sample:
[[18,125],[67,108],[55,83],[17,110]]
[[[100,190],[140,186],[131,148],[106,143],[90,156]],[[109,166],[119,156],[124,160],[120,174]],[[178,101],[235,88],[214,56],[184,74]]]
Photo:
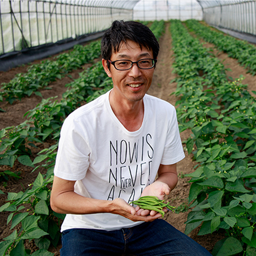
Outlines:
[[0,1],[0,55],[107,29],[132,20],[138,1]]

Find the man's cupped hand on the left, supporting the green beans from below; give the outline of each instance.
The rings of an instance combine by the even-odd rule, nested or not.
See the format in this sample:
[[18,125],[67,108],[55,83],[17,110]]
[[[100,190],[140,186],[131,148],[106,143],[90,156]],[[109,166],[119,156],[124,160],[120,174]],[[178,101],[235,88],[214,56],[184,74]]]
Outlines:
[[[111,213],[122,215],[123,217],[130,219],[132,221],[153,221],[155,219],[158,219],[159,217],[162,217],[161,213],[155,212],[155,214],[137,214],[135,208],[129,204],[127,204],[123,199],[116,198],[112,201],[112,206],[114,207],[114,210],[111,211]],[[137,206],[138,207],[138,206]],[[136,207],[136,209],[137,209]],[[143,209],[141,209],[143,210]],[[146,211],[146,210],[144,210]]]

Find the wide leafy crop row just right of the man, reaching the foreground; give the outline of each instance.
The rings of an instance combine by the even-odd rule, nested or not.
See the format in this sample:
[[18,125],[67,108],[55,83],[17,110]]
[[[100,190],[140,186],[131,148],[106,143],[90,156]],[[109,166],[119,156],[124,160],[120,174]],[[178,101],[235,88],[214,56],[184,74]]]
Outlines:
[[[191,177],[186,234],[222,231],[213,255],[256,253],[256,101],[180,21],[171,22],[180,130],[191,129],[188,153],[198,163]],[[214,77],[214,79],[212,79]]]

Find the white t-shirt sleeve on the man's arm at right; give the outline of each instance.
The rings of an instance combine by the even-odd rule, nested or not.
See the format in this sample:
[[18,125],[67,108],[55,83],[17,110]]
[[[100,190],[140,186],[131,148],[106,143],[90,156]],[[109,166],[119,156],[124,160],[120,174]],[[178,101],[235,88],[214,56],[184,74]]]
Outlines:
[[161,164],[169,165],[181,161],[184,157],[184,151],[180,139],[180,132],[177,120],[176,110],[173,106],[170,107],[169,127],[167,129],[164,153]]

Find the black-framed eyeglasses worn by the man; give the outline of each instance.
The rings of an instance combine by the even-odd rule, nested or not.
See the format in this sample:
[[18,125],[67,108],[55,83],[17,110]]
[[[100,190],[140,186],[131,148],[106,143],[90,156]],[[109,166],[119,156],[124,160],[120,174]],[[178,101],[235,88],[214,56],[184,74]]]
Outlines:
[[141,69],[150,69],[150,68],[154,68],[157,62],[156,59],[142,59],[134,62],[131,60],[116,60],[116,61],[108,60],[108,61],[117,70],[129,70],[132,68],[134,63],[136,63],[137,66]]

